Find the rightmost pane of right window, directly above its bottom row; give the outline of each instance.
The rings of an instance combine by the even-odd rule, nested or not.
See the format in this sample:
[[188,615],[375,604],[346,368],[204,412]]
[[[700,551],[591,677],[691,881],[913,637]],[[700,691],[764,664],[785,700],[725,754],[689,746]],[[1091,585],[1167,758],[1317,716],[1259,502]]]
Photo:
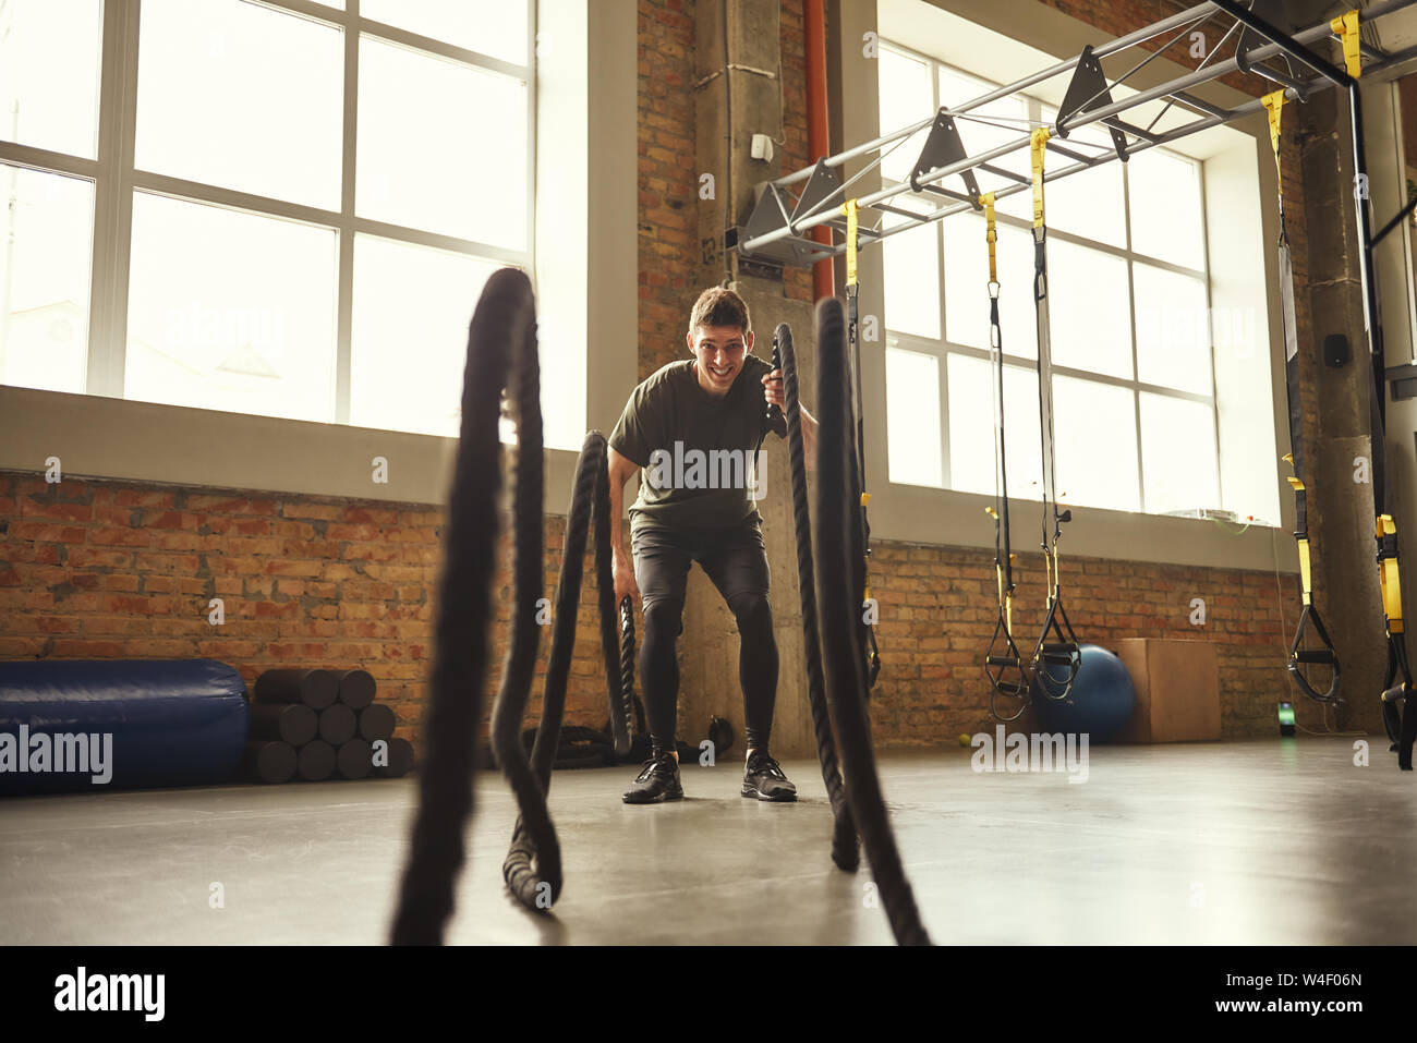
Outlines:
[[1148,384],[1210,394],[1206,283],[1152,265],[1132,265],[1136,285],[1136,368]]

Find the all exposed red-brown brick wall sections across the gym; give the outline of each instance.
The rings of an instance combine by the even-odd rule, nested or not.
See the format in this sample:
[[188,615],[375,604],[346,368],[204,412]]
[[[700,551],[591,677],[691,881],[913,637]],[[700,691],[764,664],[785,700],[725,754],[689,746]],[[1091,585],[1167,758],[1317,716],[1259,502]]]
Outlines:
[[[1100,38],[1170,13],[1161,3],[1054,6],[1100,27]],[[639,0],[639,371],[683,353],[683,325],[699,286],[694,217],[693,0]],[[782,1],[786,103],[781,170],[808,162],[802,0]],[[1287,146],[1292,149],[1292,146]],[[1297,153],[1285,153],[1291,214],[1302,214]],[[1302,224],[1291,218],[1297,278],[1305,281]],[[785,292],[811,299],[806,272]],[[1299,293],[1301,333],[1308,329]],[[626,388],[628,394],[628,388]],[[548,517],[547,597],[555,585],[564,519]],[[363,666],[421,743],[442,513],[425,504],[332,500],[261,492],[171,489],[122,482],[0,473],[0,658],[214,656],[248,683],[279,665]],[[1281,539],[1282,537],[1281,534]],[[507,581],[500,544],[497,591]],[[1019,584],[1041,585],[1041,563],[1020,556]],[[1192,597],[1204,597],[1204,636],[1219,645],[1226,735],[1272,734],[1272,706],[1291,697],[1284,650],[1297,612],[1297,581],[1272,573],[1182,568],[1064,557],[1073,621],[1087,641],[1199,636]],[[1282,597],[1277,591],[1282,588]],[[979,550],[877,541],[873,592],[881,604],[881,697],[873,703],[883,744],[939,741],[985,721],[979,655],[993,625],[992,556]],[[496,591],[495,591],[496,594]],[[213,628],[207,605],[225,599]],[[493,633],[500,665],[507,598]],[[1017,628],[1040,614],[1020,602]],[[581,599],[568,721],[604,721],[594,592]],[[543,641],[534,721],[547,642]],[[496,676],[487,682],[487,701]],[[1318,726],[1299,701],[1301,721]]]

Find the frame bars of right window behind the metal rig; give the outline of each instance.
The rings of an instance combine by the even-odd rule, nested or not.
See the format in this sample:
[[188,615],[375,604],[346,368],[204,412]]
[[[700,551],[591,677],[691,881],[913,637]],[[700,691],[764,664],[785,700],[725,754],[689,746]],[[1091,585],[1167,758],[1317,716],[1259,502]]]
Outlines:
[[[938,112],[939,106],[941,106],[941,98],[939,98],[939,69],[945,69],[947,72],[954,72],[954,74],[958,74],[958,75],[962,75],[962,77],[968,77],[969,79],[976,79],[979,82],[986,84],[990,88],[999,86],[999,84],[992,84],[988,79],[985,79],[983,77],[979,77],[976,72],[972,72],[972,71],[964,69],[964,68],[958,68],[958,67],[951,65],[948,62],[939,61],[938,58],[934,58],[934,57],[931,57],[928,54],[922,54],[920,51],[915,51],[915,50],[904,45],[904,44],[900,44],[900,43],[894,41],[894,40],[890,40],[890,41],[881,40],[880,45],[881,45],[883,50],[893,51],[893,52],[896,52],[896,54],[898,54],[898,55],[901,55],[904,58],[908,58],[911,61],[922,62],[930,69],[930,89],[931,89],[931,111],[932,112]],[[1027,106],[1029,106],[1027,108],[1029,119],[1034,120],[1034,122],[1041,122],[1041,119],[1043,119],[1043,108],[1044,108],[1043,102],[1040,102],[1037,98],[1033,98],[1033,96],[1026,96],[1026,99],[1027,99]],[[958,103],[959,101],[965,101],[965,99],[951,99],[951,101],[955,102],[955,103]],[[886,128],[883,128],[883,130],[884,129]],[[1176,159],[1180,159],[1180,160],[1183,160],[1186,163],[1192,163],[1192,164],[1195,164],[1197,167],[1202,166],[1200,160],[1190,159],[1189,156],[1183,156],[1180,153],[1165,150],[1165,149],[1163,149],[1163,152],[1166,152],[1168,156],[1175,156]],[[1210,330],[1210,323],[1209,322],[1206,323],[1206,327],[1207,327],[1207,359],[1209,359],[1209,364],[1210,364],[1210,393],[1209,394],[1197,394],[1197,393],[1192,393],[1192,391],[1182,391],[1182,390],[1178,390],[1178,388],[1163,387],[1163,385],[1159,385],[1159,384],[1148,384],[1148,383],[1141,381],[1141,380],[1136,378],[1136,374],[1139,373],[1139,370],[1138,370],[1138,357],[1136,357],[1136,354],[1138,354],[1138,351],[1136,351],[1136,292],[1135,292],[1135,279],[1134,279],[1134,275],[1132,275],[1135,264],[1145,264],[1145,265],[1151,265],[1153,268],[1159,268],[1159,269],[1163,269],[1163,271],[1168,271],[1168,272],[1173,272],[1173,274],[1186,275],[1186,276],[1190,276],[1190,278],[1200,279],[1202,285],[1206,289],[1206,315],[1207,315],[1207,317],[1210,315],[1210,308],[1212,308],[1210,252],[1209,252],[1209,238],[1207,238],[1207,234],[1206,234],[1206,220],[1204,220],[1204,215],[1206,215],[1206,179],[1203,176],[1203,170],[1197,169],[1197,191],[1200,194],[1200,214],[1202,214],[1202,222],[1200,222],[1200,225],[1202,225],[1202,254],[1200,254],[1200,256],[1202,256],[1202,268],[1197,269],[1197,268],[1187,268],[1185,265],[1178,265],[1178,264],[1170,262],[1170,261],[1163,261],[1161,258],[1151,256],[1149,254],[1141,254],[1141,252],[1132,249],[1131,171],[1129,171],[1129,164],[1127,164],[1127,163],[1122,163],[1121,167],[1122,167],[1122,207],[1124,207],[1122,217],[1124,217],[1124,228],[1125,228],[1125,245],[1124,247],[1114,247],[1110,242],[1101,242],[1098,239],[1090,239],[1090,238],[1087,238],[1084,235],[1078,235],[1076,232],[1063,231],[1063,230],[1054,228],[1054,227],[1049,228],[1049,238],[1050,239],[1056,239],[1056,241],[1061,241],[1061,242],[1074,244],[1074,245],[1078,245],[1078,247],[1085,247],[1088,249],[1095,249],[1095,251],[1100,251],[1100,252],[1107,254],[1110,256],[1121,258],[1122,261],[1127,262],[1128,310],[1129,310],[1129,315],[1131,315],[1131,323],[1129,325],[1131,325],[1131,343],[1132,343],[1132,377],[1131,378],[1114,377],[1114,376],[1110,376],[1110,374],[1095,373],[1093,370],[1081,370],[1081,368],[1076,368],[1076,367],[1070,367],[1070,366],[1060,366],[1057,363],[1053,364],[1053,374],[1056,377],[1073,377],[1076,380],[1083,380],[1083,381],[1088,381],[1088,383],[1094,383],[1094,384],[1105,384],[1105,385],[1110,385],[1110,387],[1118,387],[1118,388],[1125,388],[1125,390],[1131,391],[1131,395],[1132,395],[1132,425],[1134,425],[1134,436],[1135,436],[1135,445],[1136,445],[1136,495],[1138,495],[1138,512],[1141,512],[1141,513],[1148,513],[1148,507],[1146,507],[1146,480],[1145,480],[1145,473],[1144,473],[1144,453],[1142,453],[1141,393],[1146,391],[1146,393],[1156,394],[1156,395],[1163,395],[1163,397],[1168,397],[1168,398],[1179,398],[1179,400],[1183,400],[1183,401],[1199,402],[1199,404],[1206,405],[1210,410],[1210,422],[1212,422],[1213,431],[1214,431],[1214,446],[1216,446],[1214,466],[1216,466],[1217,493],[1223,499],[1223,496],[1224,496],[1224,483],[1221,482],[1223,470],[1221,470],[1221,461],[1220,461],[1220,452],[1221,452],[1220,412],[1219,412],[1219,405],[1217,405],[1217,398],[1216,398],[1216,390],[1217,390],[1216,364],[1214,364],[1216,351],[1214,351],[1214,336],[1213,336],[1213,330]],[[1024,171],[1020,171],[1020,173],[1024,173]],[[891,179],[886,177],[884,173],[883,173],[881,174],[881,186],[887,187],[890,184],[896,184],[896,183],[891,181]],[[917,198],[922,198],[922,197],[917,197]],[[927,200],[927,201],[930,201],[930,200]],[[931,205],[934,205],[932,201],[931,201]],[[1032,225],[1030,221],[1026,221],[1026,220],[1019,218],[1019,217],[1013,217],[1012,214],[1006,214],[1003,211],[998,213],[998,221],[999,221],[1000,225],[1015,227],[1015,228],[1027,231],[1030,234],[1033,231],[1033,225]],[[949,373],[949,356],[951,354],[959,354],[959,356],[965,356],[965,357],[969,357],[969,359],[989,361],[990,353],[989,353],[988,349],[973,347],[971,344],[961,344],[961,343],[956,343],[956,342],[952,342],[952,340],[948,339],[948,329],[949,327],[945,323],[945,315],[947,315],[948,302],[947,302],[947,293],[945,293],[944,221],[934,221],[928,227],[930,227],[931,234],[935,237],[935,256],[937,256],[938,271],[939,271],[939,286],[937,288],[937,295],[938,295],[938,302],[939,302],[939,339],[935,340],[935,339],[930,339],[930,337],[921,337],[921,336],[914,334],[914,333],[905,333],[903,330],[894,330],[894,329],[890,327],[890,315],[887,313],[887,316],[886,316],[886,319],[887,319],[887,326],[886,326],[886,349],[887,350],[900,349],[900,350],[907,350],[907,351],[918,351],[921,354],[932,356],[937,360],[938,370],[939,370],[939,438],[941,438],[939,451],[941,451],[941,480],[942,480],[942,486],[939,486],[939,487],[951,490],[951,492],[975,493],[978,490],[972,490],[972,489],[958,489],[956,490],[955,486],[954,486],[954,483],[952,483],[952,476],[951,476],[951,462],[949,462],[949,422],[948,422],[948,418],[949,418],[949,376],[948,376],[948,373]],[[921,235],[922,232],[921,232],[921,230],[914,230],[914,231],[901,232],[901,234],[903,235]],[[981,298],[982,298],[982,288],[981,288]],[[1006,368],[1016,368],[1016,370],[1020,370],[1020,371],[1024,371],[1024,373],[1036,373],[1036,363],[1030,364],[1027,361],[1019,361],[1017,359],[1012,359],[1010,356],[1005,356],[1005,367]],[[887,388],[887,398],[888,398],[888,391],[890,390]],[[887,404],[887,408],[888,408],[888,404]],[[891,482],[896,482],[896,480],[897,479],[891,478]],[[1029,489],[1029,490],[1024,490],[1024,489],[1017,489],[1017,490],[1010,489],[1009,495],[1010,495],[1010,497],[1019,497],[1019,499],[1040,499],[1039,492],[1037,490],[1032,490],[1032,489]],[[1119,507],[1115,507],[1114,504],[1078,504],[1078,506],[1097,507],[1097,509],[1102,509],[1102,510],[1121,510]],[[1220,507],[1220,506],[1224,506],[1224,504],[1223,503],[1216,503],[1216,504],[1196,504],[1196,506],[1197,507]]]

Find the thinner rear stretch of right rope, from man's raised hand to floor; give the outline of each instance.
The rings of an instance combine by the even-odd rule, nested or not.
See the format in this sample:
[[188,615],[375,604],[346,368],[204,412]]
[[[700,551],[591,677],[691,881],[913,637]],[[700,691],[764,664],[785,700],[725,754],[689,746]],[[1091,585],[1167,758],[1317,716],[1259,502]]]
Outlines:
[[806,492],[806,449],[802,439],[802,408],[798,388],[796,350],[792,347],[792,327],[781,323],[772,334],[774,361],[782,368],[782,398],[786,402],[788,461],[792,473],[792,522],[796,527],[798,585],[802,598],[802,643],[806,653],[808,703],[812,707],[812,730],[816,734],[816,755],[822,764],[822,782],[832,804],[832,862],[854,872],[862,864],[860,838],[846,799],[846,787],[836,762],[836,738],[826,706],[826,684],[822,677],[822,641],[816,628],[816,580],[812,575],[812,516]]

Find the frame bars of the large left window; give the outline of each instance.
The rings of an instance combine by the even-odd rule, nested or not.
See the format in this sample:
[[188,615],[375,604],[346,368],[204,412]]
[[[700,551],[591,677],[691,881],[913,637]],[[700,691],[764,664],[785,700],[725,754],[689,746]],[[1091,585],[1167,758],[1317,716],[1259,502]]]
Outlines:
[[[99,85],[98,159],[0,140],[0,162],[88,180],[95,186],[94,254],[89,286],[88,367],[84,394],[123,397],[128,351],[128,289],[133,222],[133,193],[149,191],[200,204],[213,204],[259,217],[273,217],[336,232],[339,286],[336,320],[336,424],[350,422],[350,343],[354,310],[354,238],[377,235],[397,242],[434,247],[453,254],[514,265],[536,281],[536,10],[527,4],[527,61],[507,62],[408,30],[360,16],[360,0],[334,10],[313,0],[239,0],[295,14],[343,31],[343,154],[339,211],[139,170],[133,166],[137,116],[137,43],[142,0],[103,0],[103,41]],[[357,217],[354,213],[356,146],[359,129],[359,43],[361,35],[414,51],[521,79],[527,88],[526,248],[507,249],[487,242],[439,235],[405,225]]]

